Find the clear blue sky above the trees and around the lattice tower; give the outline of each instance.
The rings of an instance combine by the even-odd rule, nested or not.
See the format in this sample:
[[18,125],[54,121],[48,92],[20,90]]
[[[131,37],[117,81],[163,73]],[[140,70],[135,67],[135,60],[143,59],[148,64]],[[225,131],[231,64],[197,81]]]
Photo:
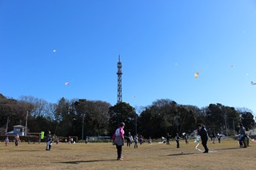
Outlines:
[[167,98],[256,113],[254,0],[0,0],[6,97],[115,105],[119,54],[132,106]]

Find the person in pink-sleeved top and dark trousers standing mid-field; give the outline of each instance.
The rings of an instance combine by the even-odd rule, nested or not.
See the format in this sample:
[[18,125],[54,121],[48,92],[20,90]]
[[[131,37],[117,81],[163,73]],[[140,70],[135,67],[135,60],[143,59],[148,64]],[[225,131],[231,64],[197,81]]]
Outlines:
[[118,128],[116,129],[113,135],[113,142],[116,145],[117,152],[118,152],[117,160],[123,160],[122,146],[124,145],[124,134],[125,134],[125,131],[123,130],[124,127],[125,127],[125,123],[121,122],[118,125]]

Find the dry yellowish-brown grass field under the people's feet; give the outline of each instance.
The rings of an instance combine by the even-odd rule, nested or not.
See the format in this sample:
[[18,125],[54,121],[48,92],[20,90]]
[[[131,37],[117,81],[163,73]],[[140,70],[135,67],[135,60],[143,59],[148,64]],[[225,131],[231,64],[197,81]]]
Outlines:
[[[210,153],[195,149],[190,140],[166,144],[142,144],[123,147],[124,160],[117,161],[116,148],[110,143],[53,144],[46,151],[46,144],[20,143],[6,147],[0,143],[0,169],[255,169],[256,143],[238,148],[237,140],[222,140],[221,144],[208,142]],[[202,148],[202,144],[198,146]]]

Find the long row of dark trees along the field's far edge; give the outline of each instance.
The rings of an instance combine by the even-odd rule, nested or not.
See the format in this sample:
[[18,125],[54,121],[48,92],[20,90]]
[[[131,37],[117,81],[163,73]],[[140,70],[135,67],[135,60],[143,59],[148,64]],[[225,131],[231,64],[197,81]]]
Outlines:
[[[126,102],[110,105],[106,101],[86,99],[67,100],[58,103],[22,96],[18,100],[0,93],[0,135],[12,130],[14,125],[25,125],[29,132],[47,132],[56,136],[112,136],[120,122],[126,124],[126,134],[139,134],[146,138],[175,136],[178,132],[191,133],[198,123],[209,132],[234,135],[242,123],[246,130],[255,126],[250,109],[234,109],[222,104],[210,104],[199,109],[194,105],[179,105],[170,99],[154,101],[152,105],[134,108]],[[8,126],[7,126],[8,125]],[[6,127],[7,126],[7,127]]]

